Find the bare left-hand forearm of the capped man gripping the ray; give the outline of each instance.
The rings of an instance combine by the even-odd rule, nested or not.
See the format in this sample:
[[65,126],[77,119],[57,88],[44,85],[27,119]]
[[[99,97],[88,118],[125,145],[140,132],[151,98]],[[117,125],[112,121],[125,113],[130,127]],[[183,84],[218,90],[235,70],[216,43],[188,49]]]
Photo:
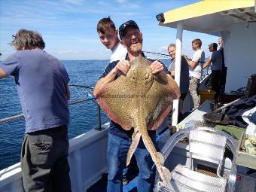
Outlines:
[[105,84],[108,84],[108,83],[114,81],[114,79],[117,77],[117,73],[118,73],[118,70],[115,67],[114,69],[111,70],[111,72],[108,73],[108,75],[105,76],[105,78],[99,79],[96,86],[94,87],[93,95],[97,96],[99,93],[99,90],[101,90],[102,87],[105,86]]

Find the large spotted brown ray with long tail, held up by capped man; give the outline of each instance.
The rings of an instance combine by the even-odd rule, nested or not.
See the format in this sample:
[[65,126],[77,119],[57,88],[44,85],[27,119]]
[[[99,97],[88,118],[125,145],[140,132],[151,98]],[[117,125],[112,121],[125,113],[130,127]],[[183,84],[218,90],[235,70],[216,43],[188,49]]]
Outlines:
[[126,164],[130,163],[142,137],[163,183],[168,185],[170,172],[163,166],[163,155],[157,152],[148,130],[156,130],[160,126],[172,108],[172,100],[176,98],[172,93],[171,82],[164,84],[157,80],[151,73],[150,65],[151,62],[143,56],[137,56],[127,75],[120,75],[102,87],[96,99],[108,117],[124,130],[134,128]]

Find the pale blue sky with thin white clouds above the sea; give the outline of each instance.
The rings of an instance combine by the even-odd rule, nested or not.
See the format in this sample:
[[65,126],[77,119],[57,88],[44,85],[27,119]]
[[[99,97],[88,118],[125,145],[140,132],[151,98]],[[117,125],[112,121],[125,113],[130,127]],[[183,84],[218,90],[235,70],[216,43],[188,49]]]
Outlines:
[[[175,42],[176,30],[158,26],[156,15],[189,5],[199,0],[171,1],[91,1],[91,0],[0,0],[0,52],[5,59],[14,48],[12,41],[19,29],[41,33],[45,50],[58,59],[109,59],[111,52],[99,41],[96,25],[102,17],[110,16],[117,28],[127,20],[135,20],[143,34],[142,50],[167,53],[166,47]],[[191,56],[191,41],[203,40],[203,49],[209,56],[208,44],[218,37],[196,32],[183,32],[182,53]]]

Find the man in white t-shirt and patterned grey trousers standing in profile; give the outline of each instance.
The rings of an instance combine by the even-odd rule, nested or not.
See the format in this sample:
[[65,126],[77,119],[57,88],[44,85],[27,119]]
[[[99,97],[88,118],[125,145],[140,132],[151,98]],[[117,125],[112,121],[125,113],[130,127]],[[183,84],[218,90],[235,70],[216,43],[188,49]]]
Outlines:
[[205,60],[205,52],[201,49],[202,41],[200,38],[196,38],[192,41],[192,49],[196,52],[192,56],[191,60],[187,59],[187,65],[189,66],[189,92],[194,102],[194,108],[197,109],[200,104],[200,95],[198,92],[202,66]]

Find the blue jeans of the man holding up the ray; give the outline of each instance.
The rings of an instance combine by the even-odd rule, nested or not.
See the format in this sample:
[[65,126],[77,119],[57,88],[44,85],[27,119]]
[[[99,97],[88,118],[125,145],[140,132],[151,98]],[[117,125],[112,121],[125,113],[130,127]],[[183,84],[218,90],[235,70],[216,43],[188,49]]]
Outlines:
[[[151,136],[155,145],[156,136]],[[132,139],[108,133],[108,192],[123,191],[123,169]],[[139,167],[138,192],[151,192],[154,188],[155,166],[142,139],[135,151]]]

